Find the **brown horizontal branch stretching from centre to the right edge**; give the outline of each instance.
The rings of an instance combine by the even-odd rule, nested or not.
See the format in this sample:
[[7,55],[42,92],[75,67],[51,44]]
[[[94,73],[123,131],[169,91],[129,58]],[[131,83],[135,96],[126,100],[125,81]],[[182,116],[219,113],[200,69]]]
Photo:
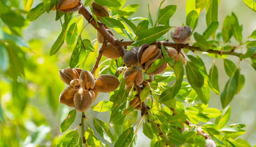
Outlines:
[[[117,45],[123,45],[123,46],[129,46],[132,43],[133,43],[133,41],[117,41]],[[160,44],[160,43],[162,43],[166,47],[172,47],[172,48],[175,48],[175,49],[189,49],[191,51],[202,51],[199,47],[193,47],[189,44],[177,44],[177,43],[172,43],[172,42],[168,42],[168,41],[155,41],[155,42],[151,43],[150,45]],[[221,51],[218,51],[218,50],[209,49],[209,50],[204,51],[204,52],[209,52],[211,54],[221,55]],[[234,52],[233,50],[231,50],[231,51],[223,51],[222,55],[233,55],[233,56],[241,57],[244,54],[237,53],[237,52]],[[256,58],[256,55],[254,55],[252,57]]]

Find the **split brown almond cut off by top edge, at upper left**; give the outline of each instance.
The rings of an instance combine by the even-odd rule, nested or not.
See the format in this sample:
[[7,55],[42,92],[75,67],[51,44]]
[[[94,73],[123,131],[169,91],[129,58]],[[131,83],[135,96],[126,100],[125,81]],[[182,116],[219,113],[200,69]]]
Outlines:
[[57,10],[62,13],[72,13],[81,9],[82,6],[79,0],[59,0]]

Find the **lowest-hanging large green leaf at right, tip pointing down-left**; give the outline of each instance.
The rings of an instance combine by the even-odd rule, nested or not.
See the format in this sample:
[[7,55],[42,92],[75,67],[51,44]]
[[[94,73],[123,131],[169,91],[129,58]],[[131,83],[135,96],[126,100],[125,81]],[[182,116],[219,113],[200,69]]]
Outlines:
[[225,85],[224,91],[221,93],[221,104],[222,107],[226,107],[229,102],[233,99],[236,92],[236,80],[231,77]]

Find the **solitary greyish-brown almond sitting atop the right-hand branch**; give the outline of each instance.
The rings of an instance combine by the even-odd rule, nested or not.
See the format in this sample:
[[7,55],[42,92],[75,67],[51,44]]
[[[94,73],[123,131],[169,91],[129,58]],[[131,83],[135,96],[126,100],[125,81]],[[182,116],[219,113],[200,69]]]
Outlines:
[[177,26],[174,33],[171,32],[171,38],[176,43],[186,43],[191,35],[191,28],[189,26]]

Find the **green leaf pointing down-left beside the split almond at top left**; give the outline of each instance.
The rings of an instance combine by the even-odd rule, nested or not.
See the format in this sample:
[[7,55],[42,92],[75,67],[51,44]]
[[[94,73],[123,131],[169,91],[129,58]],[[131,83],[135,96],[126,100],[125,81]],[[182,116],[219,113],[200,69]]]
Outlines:
[[33,9],[31,9],[28,12],[28,15],[26,17],[26,20],[28,21],[34,21],[36,20],[40,15],[45,13],[45,6],[42,3],[39,3],[37,6],[35,6]]

